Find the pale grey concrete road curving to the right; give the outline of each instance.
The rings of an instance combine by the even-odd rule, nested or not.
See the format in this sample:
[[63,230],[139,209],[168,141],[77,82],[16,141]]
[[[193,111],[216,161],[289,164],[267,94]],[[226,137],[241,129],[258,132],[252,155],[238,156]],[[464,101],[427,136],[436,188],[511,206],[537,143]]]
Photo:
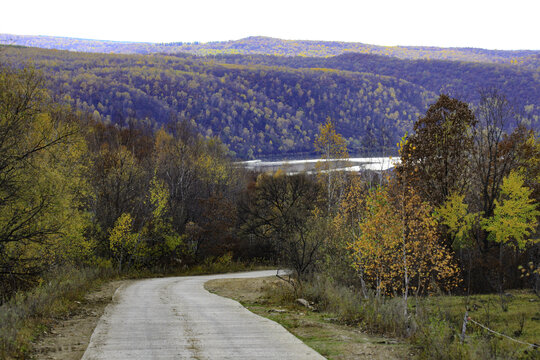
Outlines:
[[281,325],[209,293],[212,279],[273,271],[140,280],[120,287],[83,355],[94,359],[324,359]]

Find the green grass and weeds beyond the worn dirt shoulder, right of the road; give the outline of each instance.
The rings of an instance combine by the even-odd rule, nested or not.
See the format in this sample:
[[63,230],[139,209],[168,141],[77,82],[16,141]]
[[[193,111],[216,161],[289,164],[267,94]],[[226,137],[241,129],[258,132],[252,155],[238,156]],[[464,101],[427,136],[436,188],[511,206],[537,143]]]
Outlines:
[[408,314],[403,300],[365,299],[351,287],[324,277],[305,283],[305,298],[331,311],[347,324],[370,333],[407,339],[425,359],[540,359],[540,350],[523,345],[470,323],[465,342],[461,329],[465,311],[478,323],[531,344],[540,342],[540,299],[531,291],[516,290],[503,295],[428,296],[409,298]]

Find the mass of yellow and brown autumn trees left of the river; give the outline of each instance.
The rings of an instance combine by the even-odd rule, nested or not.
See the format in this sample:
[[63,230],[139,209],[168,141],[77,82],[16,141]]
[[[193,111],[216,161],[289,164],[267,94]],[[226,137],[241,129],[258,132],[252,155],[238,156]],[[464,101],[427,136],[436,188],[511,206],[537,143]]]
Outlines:
[[0,68],[0,117],[0,302],[61,264],[163,269],[242,252],[227,232],[246,180],[219,139],[184,122],[96,121],[31,69]]

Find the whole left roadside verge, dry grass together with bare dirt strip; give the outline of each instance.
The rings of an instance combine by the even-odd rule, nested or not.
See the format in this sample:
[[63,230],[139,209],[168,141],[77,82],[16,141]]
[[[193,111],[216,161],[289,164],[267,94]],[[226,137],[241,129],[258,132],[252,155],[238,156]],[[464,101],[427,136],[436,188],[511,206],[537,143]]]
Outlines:
[[[111,280],[261,268],[264,267],[232,261],[225,255],[207,259],[192,268],[168,272],[131,270],[118,274],[110,267],[57,269],[48,274],[41,285],[19,292],[0,306],[0,359],[80,358],[100,312],[110,302],[109,294],[103,294],[99,289],[102,286],[110,289],[115,284],[110,283]],[[64,329],[59,330],[59,327]],[[66,332],[65,328],[72,330]]]

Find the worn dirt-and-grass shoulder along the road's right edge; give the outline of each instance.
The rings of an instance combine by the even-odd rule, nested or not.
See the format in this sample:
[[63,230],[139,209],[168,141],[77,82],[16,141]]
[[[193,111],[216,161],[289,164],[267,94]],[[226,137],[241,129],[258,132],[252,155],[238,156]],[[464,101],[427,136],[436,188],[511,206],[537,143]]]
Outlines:
[[239,301],[257,315],[283,325],[308,346],[328,359],[406,359],[409,346],[379,336],[368,335],[358,327],[341,324],[335,314],[315,312],[283,302],[287,286],[275,277],[212,280],[205,284],[210,292]]

